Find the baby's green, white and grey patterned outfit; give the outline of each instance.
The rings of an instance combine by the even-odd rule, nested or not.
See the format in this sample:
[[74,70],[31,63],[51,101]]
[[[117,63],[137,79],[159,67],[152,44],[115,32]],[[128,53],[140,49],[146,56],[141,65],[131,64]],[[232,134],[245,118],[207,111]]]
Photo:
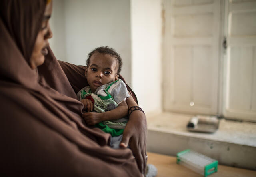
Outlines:
[[[126,101],[129,94],[124,82],[118,79],[98,87],[94,93],[91,92],[90,86],[86,86],[77,93],[77,97],[80,101],[90,99],[94,104],[93,111],[101,113],[118,107],[118,104]],[[116,137],[122,135],[127,121],[128,117],[123,117],[118,120],[100,122],[96,124],[96,127]]]

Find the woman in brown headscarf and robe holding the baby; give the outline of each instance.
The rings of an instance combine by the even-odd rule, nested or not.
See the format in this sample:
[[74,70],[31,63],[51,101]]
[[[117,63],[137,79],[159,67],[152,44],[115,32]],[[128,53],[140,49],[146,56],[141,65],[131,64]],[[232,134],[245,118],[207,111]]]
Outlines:
[[146,117],[130,115],[121,146],[132,151],[84,123],[74,92],[83,68],[60,62],[67,78],[50,50],[51,11],[49,0],[0,1],[1,176],[142,176]]

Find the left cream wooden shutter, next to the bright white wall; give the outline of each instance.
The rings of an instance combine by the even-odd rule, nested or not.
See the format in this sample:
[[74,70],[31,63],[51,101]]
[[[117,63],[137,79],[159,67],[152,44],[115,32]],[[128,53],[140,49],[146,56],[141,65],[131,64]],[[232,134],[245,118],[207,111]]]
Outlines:
[[220,0],[166,0],[164,9],[164,111],[217,114]]

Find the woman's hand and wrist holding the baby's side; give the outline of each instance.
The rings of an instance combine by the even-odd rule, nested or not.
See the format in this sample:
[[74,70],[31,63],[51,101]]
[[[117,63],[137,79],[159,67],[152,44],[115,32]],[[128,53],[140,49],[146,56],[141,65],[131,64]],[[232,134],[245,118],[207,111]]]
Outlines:
[[[126,100],[126,103],[128,107],[138,106],[132,97],[129,97]],[[132,153],[142,174],[144,174],[147,164],[146,137],[146,116],[142,111],[133,111],[129,116],[129,121],[124,129],[120,147],[127,147],[128,144],[130,145],[130,149],[132,149]]]

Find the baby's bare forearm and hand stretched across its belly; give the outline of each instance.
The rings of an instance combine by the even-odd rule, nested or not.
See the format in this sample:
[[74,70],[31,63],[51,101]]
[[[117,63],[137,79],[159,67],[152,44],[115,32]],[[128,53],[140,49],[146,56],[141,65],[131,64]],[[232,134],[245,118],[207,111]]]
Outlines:
[[116,109],[112,109],[111,111],[102,113],[88,112],[84,113],[82,117],[88,125],[95,125],[96,123],[100,123],[102,121],[120,119],[126,115],[128,115],[128,105],[126,101],[123,101]]

